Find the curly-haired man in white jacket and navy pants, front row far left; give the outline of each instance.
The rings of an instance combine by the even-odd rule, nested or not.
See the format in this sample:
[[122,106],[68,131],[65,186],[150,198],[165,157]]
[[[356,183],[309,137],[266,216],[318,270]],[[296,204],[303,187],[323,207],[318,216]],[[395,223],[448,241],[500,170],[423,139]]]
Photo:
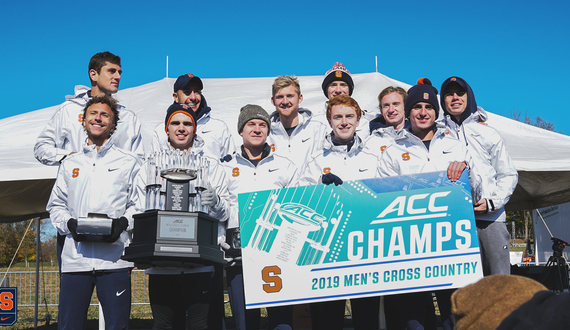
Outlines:
[[[47,210],[53,226],[65,237],[61,255],[58,324],[82,329],[93,287],[105,314],[107,329],[128,328],[131,307],[131,262],[121,260],[131,240],[132,215],[141,211],[135,178],[139,158],[114,145],[119,119],[110,96],[95,96],[83,112],[87,140],[83,149],[60,166]],[[100,213],[112,220],[111,234],[92,241],[77,232],[80,217]]]

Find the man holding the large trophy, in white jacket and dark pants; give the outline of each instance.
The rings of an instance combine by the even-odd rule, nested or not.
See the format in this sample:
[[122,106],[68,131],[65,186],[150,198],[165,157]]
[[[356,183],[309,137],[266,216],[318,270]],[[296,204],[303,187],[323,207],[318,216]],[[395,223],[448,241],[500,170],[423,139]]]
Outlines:
[[[200,198],[202,205],[209,206],[209,215],[220,221],[218,240],[221,243],[225,240],[223,229],[229,216],[227,177],[219,159],[204,151],[205,143],[197,134],[197,125],[191,105],[172,104],[164,119],[168,145],[162,150],[184,150],[195,157],[208,159],[208,188],[201,192]],[[146,184],[142,182],[141,186]],[[186,264],[179,268],[152,267],[146,273],[149,274],[154,329],[184,329],[187,317],[191,329],[222,328],[223,309],[219,303],[220,299],[223,303],[221,266]]]

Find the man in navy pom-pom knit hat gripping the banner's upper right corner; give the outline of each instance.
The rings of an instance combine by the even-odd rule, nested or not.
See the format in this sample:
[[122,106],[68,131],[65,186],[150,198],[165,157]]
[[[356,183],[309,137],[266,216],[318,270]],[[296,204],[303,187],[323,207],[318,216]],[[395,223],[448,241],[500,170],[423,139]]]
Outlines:
[[[457,181],[470,164],[463,144],[450,136],[448,129],[436,124],[439,114],[437,90],[427,79],[418,80],[418,85],[408,90],[405,114],[410,128],[397,132],[394,143],[388,146],[380,158],[382,176],[396,176],[422,172],[444,171],[451,181]],[[472,180],[477,181],[475,175]],[[442,319],[451,314],[449,297],[451,292],[440,292]],[[400,325],[412,329],[423,329],[425,307],[431,295],[429,292],[410,293],[390,297],[397,306]]]

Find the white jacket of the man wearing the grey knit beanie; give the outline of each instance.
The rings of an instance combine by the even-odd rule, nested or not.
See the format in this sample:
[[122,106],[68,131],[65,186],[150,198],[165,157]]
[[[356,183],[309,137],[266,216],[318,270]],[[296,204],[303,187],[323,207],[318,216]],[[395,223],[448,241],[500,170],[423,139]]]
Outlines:
[[231,214],[228,228],[239,227],[238,194],[252,191],[295,187],[299,171],[289,159],[277,155],[266,144],[269,155],[254,166],[242,152],[236,152],[229,162],[224,162],[231,194]]

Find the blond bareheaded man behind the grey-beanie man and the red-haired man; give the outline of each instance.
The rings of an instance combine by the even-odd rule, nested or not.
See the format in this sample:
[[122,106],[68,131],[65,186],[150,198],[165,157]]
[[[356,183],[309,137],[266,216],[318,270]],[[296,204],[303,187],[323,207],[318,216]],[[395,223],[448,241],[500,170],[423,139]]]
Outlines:
[[299,108],[303,101],[299,80],[279,76],[272,86],[271,132],[267,143],[271,149],[302,168],[312,152],[321,148],[327,127],[313,120],[311,111]]

